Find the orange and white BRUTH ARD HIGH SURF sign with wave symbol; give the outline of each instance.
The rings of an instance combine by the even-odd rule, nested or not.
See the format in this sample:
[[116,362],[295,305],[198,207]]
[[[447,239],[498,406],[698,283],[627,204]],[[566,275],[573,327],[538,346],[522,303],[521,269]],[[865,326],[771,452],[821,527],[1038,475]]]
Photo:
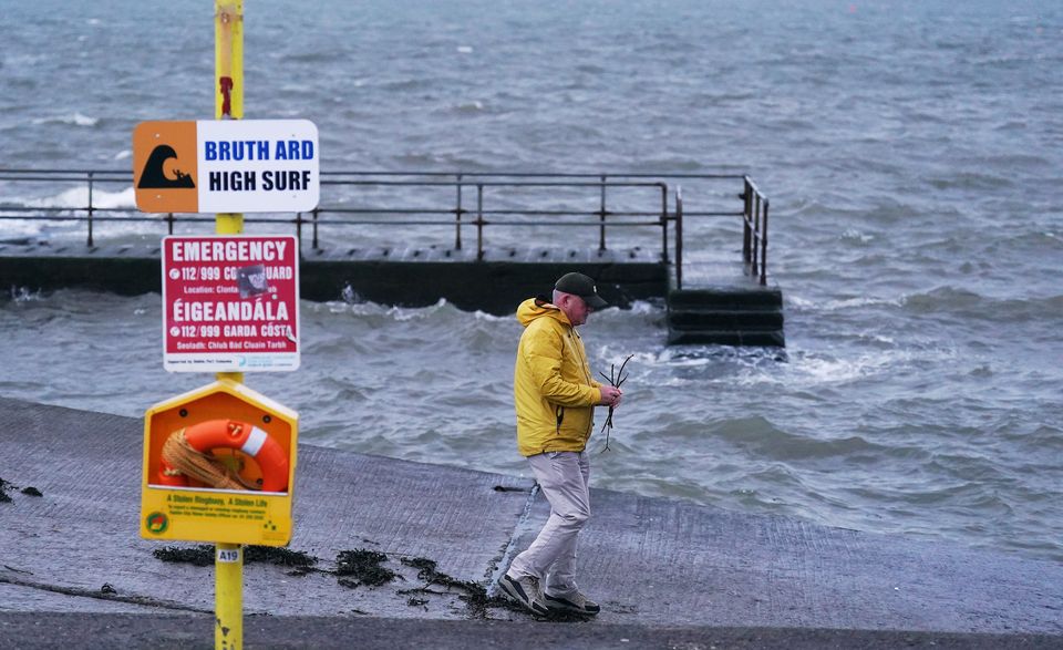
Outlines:
[[307,120],[142,122],[133,187],[145,213],[283,213],[318,206],[318,127]]

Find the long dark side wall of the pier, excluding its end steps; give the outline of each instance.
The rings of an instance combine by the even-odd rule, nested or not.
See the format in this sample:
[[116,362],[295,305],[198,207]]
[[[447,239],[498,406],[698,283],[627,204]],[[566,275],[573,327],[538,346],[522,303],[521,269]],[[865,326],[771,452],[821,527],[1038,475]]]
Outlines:
[[[0,287],[31,291],[84,288],[136,296],[162,290],[159,244],[85,246],[47,240],[0,241]],[[668,293],[669,265],[659,252],[509,248],[484,251],[434,247],[313,249],[303,243],[299,264],[305,300],[369,300],[426,307],[445,299],[458,309],[513,313],[571,270],[596,278],[610,305]]]

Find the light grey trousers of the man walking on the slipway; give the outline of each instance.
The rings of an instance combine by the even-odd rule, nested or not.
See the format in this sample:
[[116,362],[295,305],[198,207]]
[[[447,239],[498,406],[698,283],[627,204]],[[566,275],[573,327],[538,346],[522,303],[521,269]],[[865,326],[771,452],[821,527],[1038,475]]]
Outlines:
[[528,456],[550,518],[527,550],[513,558],[512,577],[533,576],[551,596],[577,591],[576,541],[590,518],[590,462],[587,452],[546,452]]

